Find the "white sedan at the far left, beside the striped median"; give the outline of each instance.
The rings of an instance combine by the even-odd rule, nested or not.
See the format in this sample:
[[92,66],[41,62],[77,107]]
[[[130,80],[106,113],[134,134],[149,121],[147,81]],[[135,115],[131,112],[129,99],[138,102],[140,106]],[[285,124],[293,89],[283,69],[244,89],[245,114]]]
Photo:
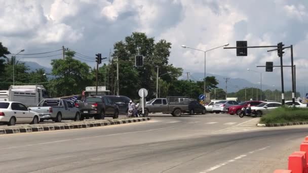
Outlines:
[[28,110],[28,108],[19,102],[0,102],[0,122],[15,125],[16,123],[40,122],[38,113]]

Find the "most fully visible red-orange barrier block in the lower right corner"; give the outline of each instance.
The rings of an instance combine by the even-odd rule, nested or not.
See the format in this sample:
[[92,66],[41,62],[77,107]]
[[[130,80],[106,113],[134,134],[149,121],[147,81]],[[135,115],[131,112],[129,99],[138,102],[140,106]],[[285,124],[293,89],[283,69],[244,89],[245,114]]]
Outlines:
[[289,156],[288,169],[292,170],[293,173],[305,173],[306,171],[306,160],[305,152],[297,151]]

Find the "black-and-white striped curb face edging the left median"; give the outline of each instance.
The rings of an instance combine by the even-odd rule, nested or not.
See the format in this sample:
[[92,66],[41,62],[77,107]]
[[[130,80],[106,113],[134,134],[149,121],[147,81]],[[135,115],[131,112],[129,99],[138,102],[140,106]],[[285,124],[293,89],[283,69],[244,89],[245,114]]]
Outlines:
[[[117,124],[127,124],[132,122],[141,122],[151,120],[150,117],[146,118],[130,118],[130,119],[117,119],[108,122],[87,122],[84,121],[83,124],[65,124],[65,125],[54,125],[54,126],[40,126],[40,127],[20,127],[20,128],[7,128],[0,129],[0,135],[3,134],[18,134],[18,133],[30,133],[30,132],[41,132],[41,131],[57,131],[61,129],[74,129],[74,128],[90,128],[105,125],[117,125]],[[80,122],[80,121],[78,121]]]

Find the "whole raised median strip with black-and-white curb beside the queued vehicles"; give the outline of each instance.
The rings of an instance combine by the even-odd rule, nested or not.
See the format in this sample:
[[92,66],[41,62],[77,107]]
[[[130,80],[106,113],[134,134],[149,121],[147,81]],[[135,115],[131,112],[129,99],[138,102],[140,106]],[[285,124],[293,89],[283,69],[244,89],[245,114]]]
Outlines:
[[3,134],[18,134],[42,131],[57,131],[62,129],[90,128],[106,125],[126,124],[132,122],[148,121],[146,118],[121,118],[121,119],[101,119],[93,121],[73,121],[73,122],[58,122],[58,123],[42,123],[42,124],[26,124],[16,126],[0,127],[0,135]]

